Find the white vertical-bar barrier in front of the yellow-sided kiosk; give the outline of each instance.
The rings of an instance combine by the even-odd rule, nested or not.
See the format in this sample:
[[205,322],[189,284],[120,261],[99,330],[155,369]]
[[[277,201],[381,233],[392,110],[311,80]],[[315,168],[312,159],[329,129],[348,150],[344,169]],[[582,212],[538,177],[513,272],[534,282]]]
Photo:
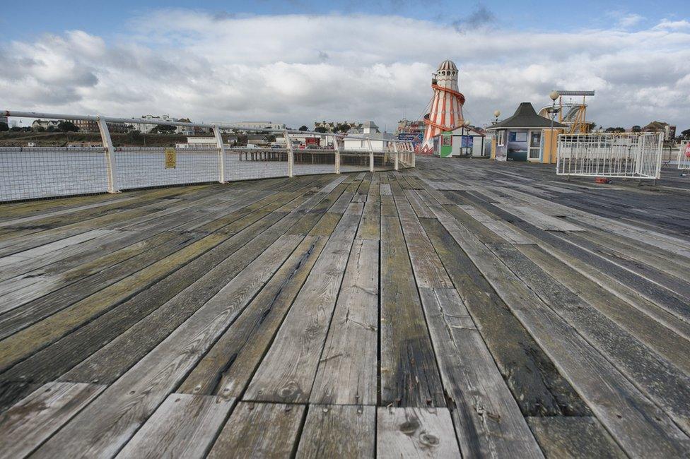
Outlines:
[[556,173],[658,179],[662,145],[662,133],[561,134]]

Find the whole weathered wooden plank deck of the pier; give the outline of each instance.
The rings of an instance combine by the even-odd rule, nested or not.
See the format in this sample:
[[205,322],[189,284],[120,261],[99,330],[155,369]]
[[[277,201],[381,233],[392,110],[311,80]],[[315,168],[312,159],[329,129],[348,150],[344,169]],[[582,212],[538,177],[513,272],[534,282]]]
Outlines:
[[690,454],[690,189],[419,158],[0,205],[0,457]]

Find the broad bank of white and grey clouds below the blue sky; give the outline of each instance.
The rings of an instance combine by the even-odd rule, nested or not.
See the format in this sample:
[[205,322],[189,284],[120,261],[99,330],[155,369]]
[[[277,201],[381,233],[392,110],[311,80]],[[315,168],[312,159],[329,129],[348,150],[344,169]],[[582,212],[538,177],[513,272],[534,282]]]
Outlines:
[[458,32],[399,16],[155,11],[112,40],[75,30],[0,44],[0,100],[12,109],[292,126],[373,119],[393,129],[404,112],[422,114],[431,73],[450,58],[476,123],[523,100],[547,105],[559,88],[597,90],[588,113],[600,124],[686,126],[690,30],[682,23]]

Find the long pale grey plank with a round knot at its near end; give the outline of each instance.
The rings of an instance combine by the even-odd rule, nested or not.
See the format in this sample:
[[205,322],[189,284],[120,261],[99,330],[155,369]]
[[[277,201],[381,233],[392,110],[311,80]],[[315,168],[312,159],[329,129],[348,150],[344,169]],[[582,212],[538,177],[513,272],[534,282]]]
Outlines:
[[361,203],[352,203],[334,230],[244,400],[309,400],[362,208]]

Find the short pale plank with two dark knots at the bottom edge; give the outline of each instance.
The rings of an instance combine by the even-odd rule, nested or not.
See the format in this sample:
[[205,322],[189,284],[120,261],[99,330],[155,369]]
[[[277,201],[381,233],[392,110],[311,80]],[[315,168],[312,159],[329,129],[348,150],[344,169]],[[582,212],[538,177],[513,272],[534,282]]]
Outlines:
[[378,407],[378,458],[460,458],[448,408]]

